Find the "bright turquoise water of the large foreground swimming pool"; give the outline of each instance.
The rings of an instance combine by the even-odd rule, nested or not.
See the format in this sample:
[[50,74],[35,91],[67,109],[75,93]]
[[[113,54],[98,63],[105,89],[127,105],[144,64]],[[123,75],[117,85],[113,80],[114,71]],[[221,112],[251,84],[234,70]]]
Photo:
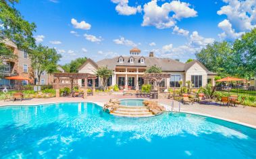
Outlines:
[[132,119],[92,103],[0,108],[0,158],[256,158],[256,130],[184,113]]

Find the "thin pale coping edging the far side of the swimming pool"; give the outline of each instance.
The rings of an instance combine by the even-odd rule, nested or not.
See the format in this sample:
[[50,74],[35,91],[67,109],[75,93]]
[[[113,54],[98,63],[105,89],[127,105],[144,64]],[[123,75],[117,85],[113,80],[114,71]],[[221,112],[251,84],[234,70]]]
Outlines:
[[[138,98],[122,98],[122,99],[138,99]],[[139,99],[141,99],[141,98],[139,98]],[[90,100],[70,100],[70,101],[63,101],[63,102],[91,102],[91,103],[97,104],[101,107],[104,106],[103,102],[94,102],[94,101],[90,101]],[[5,106],[34,106],[34,105],[40,105],[40,104],[55,104],[55,103],[63,103],[63,102],[41,102],[41,103],[37,103],[37,104],[34,103],[34,104],[18,104],[18,105],[17,104],[7,104],[7,105],[1,105],[0,108],[5,107]],[[162,103],[159,103],[159,104],[161,104],[163,106],[168,106],[167,104],[162,104]],[[168,112],[170,112],[170,110],[168,110]],[[176,110],[174,110],[174,112],[179,113]],[[238,125],[242,125],[242,126],[245,126],[245,127],[250,127],[250,128],[256,129],[256,125],[243,123],[243,122],[240,122],[240,121],[237,121],[237,120],[217,117],[217,116],[209,115],[209,114],[206,114],[206,113],[195,113],[195,112],[186,111],[186,110],[180,110],[180,113],[188,113],[188,114],[193,114],[193,115],[201,115],[201,116],[204,116],[204,117],[211,117],[211,118],[220,119],[220,120],[223,120],[223,121],[228,121],[230,123],[236,123]]]

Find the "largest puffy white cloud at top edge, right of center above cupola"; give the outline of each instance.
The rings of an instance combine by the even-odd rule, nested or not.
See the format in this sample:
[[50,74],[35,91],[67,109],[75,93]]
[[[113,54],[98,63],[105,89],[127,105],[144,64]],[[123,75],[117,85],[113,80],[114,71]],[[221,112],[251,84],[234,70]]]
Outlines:
[[[157,0],[152,0],[144,5],[142,26],[155,26],[156,28],[171,28],[176,20],[197,16],[197,11],[190,8],[189,3],[171,1],[157,5]],[[172,14],[172,16],[170,15]]]

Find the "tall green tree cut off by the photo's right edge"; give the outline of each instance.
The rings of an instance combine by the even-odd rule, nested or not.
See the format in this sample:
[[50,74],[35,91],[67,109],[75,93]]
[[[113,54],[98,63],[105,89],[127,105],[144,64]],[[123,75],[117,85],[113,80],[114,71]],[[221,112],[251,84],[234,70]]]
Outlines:
[[247,79],[256,75],[256,28],[235,40],[232,55],[234,73]]

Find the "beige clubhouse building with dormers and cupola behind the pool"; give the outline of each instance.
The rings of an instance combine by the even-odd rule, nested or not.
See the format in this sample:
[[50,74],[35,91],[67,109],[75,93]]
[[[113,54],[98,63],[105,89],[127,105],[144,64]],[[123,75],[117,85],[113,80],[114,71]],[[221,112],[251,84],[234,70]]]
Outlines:
[[[214,77],[217,75],[209,71],[202,63],[194,60],[190,63],[181,63],[173,59],[154,57],[154,53],[149,53],[148,57],[140,55],[140,50],[134,48],[130,50],[130,56],[114,57],[112,59],[103,59],[101,61],[93,61],[88,59],[78,69],[79,73],[95,74],[99,67],[107,66],[113,70],[113,75],[109,77],[107,86],[118,85],[120,90],[140,90],[143,84],[150,82],[143,79],[145,71],[153,66],[161,67],[162,73],[170,74],[161,81],[161,88],[180,88],[186,86],[186,81],[190,81],[193,88],[200,88],[206,84],[215,86]],[[88,79],[88,87],[93,86],[93,80]],[[78,79],[78,85],[83,87],[84,80]],[[99,78],[95,80],[95,86],[100,87]]]

